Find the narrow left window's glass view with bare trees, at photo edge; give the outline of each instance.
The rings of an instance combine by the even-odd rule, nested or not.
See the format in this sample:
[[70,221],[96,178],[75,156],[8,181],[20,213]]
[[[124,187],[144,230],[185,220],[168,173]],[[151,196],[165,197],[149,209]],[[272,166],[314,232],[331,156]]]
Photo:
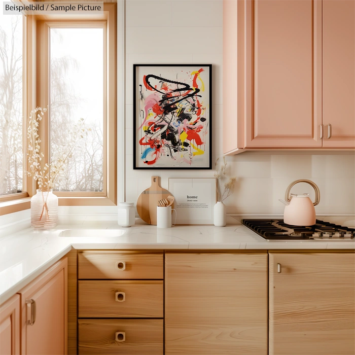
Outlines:
[[0,13],[0,195],[22,192],[22,121],[22,15]]

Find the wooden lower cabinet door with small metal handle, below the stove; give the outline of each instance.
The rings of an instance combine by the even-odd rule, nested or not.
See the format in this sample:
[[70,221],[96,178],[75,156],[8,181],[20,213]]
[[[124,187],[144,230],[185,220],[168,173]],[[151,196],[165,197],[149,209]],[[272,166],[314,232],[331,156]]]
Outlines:
[[270,253],[269,355],[353,355],[354,294],[354,253]]

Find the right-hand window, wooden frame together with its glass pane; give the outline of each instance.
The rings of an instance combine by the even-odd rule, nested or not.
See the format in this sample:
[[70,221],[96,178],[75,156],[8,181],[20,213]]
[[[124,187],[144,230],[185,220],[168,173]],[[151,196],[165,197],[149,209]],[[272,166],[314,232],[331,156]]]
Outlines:
[[49,107],[40,132],[44,163],[82,138],[54,193],[64,205],[116,204],[116,4],[104,17],[37,21],[37,105]]

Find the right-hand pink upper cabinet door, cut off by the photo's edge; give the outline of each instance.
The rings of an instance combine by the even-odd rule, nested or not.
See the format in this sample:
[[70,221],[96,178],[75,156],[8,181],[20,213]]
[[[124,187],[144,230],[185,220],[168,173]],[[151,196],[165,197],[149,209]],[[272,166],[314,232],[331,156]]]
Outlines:
[[[323,0],[323,123],[326,148],[355,148],[355,1]],[[328,125],[331,137],[328,139]]]

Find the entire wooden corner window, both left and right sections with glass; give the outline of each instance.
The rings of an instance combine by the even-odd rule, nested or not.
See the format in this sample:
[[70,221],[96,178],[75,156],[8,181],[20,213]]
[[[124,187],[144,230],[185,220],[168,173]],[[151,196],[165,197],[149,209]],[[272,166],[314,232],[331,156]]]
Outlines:
[[38,106],[49,107],[39,130],[43,164],[63,152],[84,119],[54,188],[59,204],[117,203],[116,8],[67,19],[0,13],[0,215],[29,208],[21,198],[35,193],[26,124]]

